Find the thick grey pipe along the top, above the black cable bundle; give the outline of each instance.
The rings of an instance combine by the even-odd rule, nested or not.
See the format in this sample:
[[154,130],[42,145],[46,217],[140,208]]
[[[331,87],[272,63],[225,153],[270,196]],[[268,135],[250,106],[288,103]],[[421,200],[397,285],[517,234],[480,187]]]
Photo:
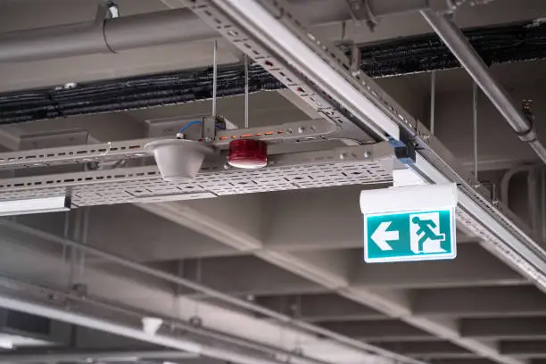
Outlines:
[[[403,12],[416,12],[431,6],[449,11],[447,0],[368,0],[370,14],[381,18]],[[309,13],[312,24],[352,19],[350,7],[339,0],[293,1],[296,12]],[[325,11],[325,9],[327,11]],[[327,14],[327,15],[324,15]],[[114,19],[79,22],[48,28],[0,33],[0,62],[24,62],[86,54],[109,54],[151,45],[167,45],[219,37],[216,30],[182,8],[150,12]]]

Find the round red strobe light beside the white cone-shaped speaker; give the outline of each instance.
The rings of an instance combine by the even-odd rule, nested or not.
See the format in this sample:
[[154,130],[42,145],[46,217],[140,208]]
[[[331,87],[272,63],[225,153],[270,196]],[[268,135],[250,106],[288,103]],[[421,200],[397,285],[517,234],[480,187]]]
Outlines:
[[244,170],[255,170],[268,164],[268,144],[255,139],[238,139],[229,143],[227,163]]

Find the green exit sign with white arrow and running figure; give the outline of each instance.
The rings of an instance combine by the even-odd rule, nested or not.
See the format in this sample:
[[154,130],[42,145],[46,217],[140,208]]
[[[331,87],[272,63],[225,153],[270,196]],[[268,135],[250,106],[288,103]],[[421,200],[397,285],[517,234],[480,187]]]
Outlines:
[[363,191],[364,261],[435,261],[457,255],[454,185]]

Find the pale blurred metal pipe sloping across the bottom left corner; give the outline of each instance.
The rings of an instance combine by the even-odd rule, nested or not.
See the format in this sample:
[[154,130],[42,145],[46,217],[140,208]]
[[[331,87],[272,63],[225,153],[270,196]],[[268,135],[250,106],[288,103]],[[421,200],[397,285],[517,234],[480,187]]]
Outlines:
[[80,313],[61,310],[50,306],[45,306],[36,302],[24,301],[17,298],[12,298],[6,295],[0,295],[0,307],[9,310],[26,312],[31,315],[43,316],[52,318],[58,321],[66,322],[81,327],[88,327],[95,330],[107,332],[113,335],[120,335],[135,339],[145,343],[153,343],[156,345],[165,346],[182,352],[193,353],[209,357],[212,359],[233,361],[239,364],[279,364],[277,360],[269,360],[256,355],[245,354],[242,352],[234,352],[228,349],[213,347],[211,345],[196,343],[191,340],[174,338],[167,335],[148,334],[141,329],[128,327],[120,324],[106,321],[102,318],[83,315]]

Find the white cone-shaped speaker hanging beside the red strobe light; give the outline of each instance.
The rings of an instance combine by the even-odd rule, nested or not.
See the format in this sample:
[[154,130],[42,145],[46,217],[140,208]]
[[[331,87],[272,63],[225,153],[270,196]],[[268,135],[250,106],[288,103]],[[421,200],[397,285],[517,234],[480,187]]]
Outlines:
[[209,145],[186,139],[155,140],[145,150],[153,153],[161,178],[177,183],[193,180],[205,156],[213,152]]

